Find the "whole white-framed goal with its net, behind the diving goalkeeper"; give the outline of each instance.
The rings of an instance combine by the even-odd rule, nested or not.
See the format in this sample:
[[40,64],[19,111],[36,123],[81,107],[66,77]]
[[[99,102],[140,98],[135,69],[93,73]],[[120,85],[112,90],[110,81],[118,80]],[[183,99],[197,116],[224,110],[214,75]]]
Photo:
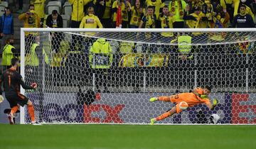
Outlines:
[[[21,75],[41,123],[144,124],[175,104],[152,96],[213,88],[213,111],[159,123],[256,123],[256,28],[21,28]],[[21,123],[29,123],[21,108]]]

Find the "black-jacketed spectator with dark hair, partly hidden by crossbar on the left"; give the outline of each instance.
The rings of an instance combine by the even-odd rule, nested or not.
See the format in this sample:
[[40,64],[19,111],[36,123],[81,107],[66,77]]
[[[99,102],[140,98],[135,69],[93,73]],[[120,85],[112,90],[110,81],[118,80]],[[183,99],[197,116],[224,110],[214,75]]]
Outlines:
[[[46,26],[49,28],[63,28],[63,18],[58,14],[58,11],[53,10],[52,14],[49,15],[46,19]],[[60,49],[60,42],[63,40],[63,34],[60,32],[51,33],[51,45],[52,50],[55,53],[58,53]]]

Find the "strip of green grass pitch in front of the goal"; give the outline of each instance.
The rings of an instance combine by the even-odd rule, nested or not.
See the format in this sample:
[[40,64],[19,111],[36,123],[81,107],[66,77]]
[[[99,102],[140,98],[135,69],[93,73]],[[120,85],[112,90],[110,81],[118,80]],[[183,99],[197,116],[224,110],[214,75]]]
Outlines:
[[1,149],[255,149],[256,126],[0,125]]

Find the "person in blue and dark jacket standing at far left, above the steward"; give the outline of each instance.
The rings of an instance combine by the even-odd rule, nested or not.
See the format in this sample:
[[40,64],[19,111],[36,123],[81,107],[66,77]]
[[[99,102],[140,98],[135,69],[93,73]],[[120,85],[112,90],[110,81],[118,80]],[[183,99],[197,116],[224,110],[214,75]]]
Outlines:
[[14,17],[11,15],[11,9],[6,7],[5,13],[0,19],[0,35],[2,38],[1,46],[4,46],[6,39],[14,35]]

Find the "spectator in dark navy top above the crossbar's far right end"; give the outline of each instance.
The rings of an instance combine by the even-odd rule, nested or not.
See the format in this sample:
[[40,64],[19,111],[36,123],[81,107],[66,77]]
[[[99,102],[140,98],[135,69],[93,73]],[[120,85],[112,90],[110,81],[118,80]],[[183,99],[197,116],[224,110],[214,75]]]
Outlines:
[[240,13],[237,14],[231,25],[232,28],[254,28],[255,23],[250,14],[246,13],[247,7],[245,5],[240,6]]

